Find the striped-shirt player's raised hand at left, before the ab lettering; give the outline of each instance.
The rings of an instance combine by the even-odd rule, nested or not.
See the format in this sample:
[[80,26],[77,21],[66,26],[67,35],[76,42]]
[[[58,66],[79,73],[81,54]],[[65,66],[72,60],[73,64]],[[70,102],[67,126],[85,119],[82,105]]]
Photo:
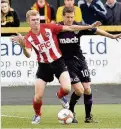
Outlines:
[[14,42],[20,43],[20,45],[24,48],[25,43],[24,43],[24,36],[22,36],[20,33],[17,33],[17,36],[12,36],[11,40]]

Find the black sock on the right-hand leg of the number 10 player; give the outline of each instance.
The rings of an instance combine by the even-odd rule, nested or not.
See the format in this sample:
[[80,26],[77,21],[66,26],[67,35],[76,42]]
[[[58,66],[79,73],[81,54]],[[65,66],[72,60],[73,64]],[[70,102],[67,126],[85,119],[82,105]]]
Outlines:
[[92,109],[92,94],[90,94],[90,95],[84,94],[84,104],[85,104],[86,118],[89,118],[91,109]]

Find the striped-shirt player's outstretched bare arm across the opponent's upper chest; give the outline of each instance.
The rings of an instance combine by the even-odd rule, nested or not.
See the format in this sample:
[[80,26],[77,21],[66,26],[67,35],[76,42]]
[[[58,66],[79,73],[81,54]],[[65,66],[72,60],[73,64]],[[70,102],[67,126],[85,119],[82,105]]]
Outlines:
[[80,30],[88,30],[88,29],[92,29],[95,27],[98,27],[101,25],[101,22],[96,21],[91,25],[72,25],[72,26],[63,26],[62,31],[80,31]]

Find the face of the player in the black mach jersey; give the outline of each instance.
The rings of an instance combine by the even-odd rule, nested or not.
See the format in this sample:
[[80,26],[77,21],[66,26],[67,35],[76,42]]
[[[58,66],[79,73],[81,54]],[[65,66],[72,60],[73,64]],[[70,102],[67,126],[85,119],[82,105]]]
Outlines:
[[63,21],[65,25],[71,26],[74,21],[74,12],[66,13],[65,16],[63,16]]

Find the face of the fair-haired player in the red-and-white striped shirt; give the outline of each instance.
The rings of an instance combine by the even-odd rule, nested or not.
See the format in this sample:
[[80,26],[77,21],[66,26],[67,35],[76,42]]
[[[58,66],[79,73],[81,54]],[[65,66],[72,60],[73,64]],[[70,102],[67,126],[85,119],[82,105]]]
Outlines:
[[37,28],[40,25],[40,15],[30,16],[27,22],[31,28]]

